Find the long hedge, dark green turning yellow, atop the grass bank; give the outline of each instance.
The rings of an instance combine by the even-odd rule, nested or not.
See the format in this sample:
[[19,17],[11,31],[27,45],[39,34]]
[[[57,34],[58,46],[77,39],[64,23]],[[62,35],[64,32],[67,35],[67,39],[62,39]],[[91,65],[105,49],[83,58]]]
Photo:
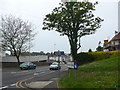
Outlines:
[[112,57],[120,57],[120,51],[79,53],[77,63],[78,65],[82,65],[82,64],[90,63],[92,61],[98,61]]

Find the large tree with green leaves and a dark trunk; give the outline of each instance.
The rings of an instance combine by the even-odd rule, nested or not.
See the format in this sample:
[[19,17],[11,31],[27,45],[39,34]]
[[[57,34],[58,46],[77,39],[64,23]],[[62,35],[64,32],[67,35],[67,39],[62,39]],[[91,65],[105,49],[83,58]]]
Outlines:
[[47,14],[43,21],[43,30],[55,30],[66,35],[71,46],[73,60],[77,60],[77,51],[80,49],[80,38],[94,34],[101,27],[103,21],[95,17],[95,5],[87,0],[82,2],[63,2],[59,7]]

